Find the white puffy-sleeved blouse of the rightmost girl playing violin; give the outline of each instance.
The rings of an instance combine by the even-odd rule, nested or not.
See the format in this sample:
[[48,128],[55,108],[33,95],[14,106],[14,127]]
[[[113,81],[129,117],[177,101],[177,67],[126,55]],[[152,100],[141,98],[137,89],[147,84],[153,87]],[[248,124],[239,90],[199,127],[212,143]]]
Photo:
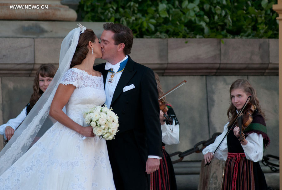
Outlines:
[[[228,124],[229,122],[224,126],[224,130],[221,135],[217,136],[214,143],[208,145],[203,151],[203,154],[206,154],[208,152],[214,152],[219,145],[219,143],[222,141],[223,137],[228,131]],[[233,131],[230,131],[230,133],[233,133]],[[248,134],[246,137],[246,140],[248,141],[247,145],[241,145],[243,147],[244,153],[246,155],[246,158],[248,160],[251,160],[253,162],[261,161],[263,158],[264,153],[264,142],[263,137],[261,134],[257,133],[251,133]],[[227,159],[227,138],[224,139],[222,142],[222,145],[219,147],[217,152],[215,153],[214,157],[216,157],[219,160],[226,160]]]

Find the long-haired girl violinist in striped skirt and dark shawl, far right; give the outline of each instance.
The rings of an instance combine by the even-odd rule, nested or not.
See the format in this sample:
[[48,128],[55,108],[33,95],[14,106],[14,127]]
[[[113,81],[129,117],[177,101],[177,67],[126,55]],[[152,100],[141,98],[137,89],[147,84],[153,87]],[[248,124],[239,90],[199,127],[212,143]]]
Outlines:
[[[255,106],[251,124],[245,128],[241,135],[239,127],[235,126],[213,155],[249,96],[251,96],[249,103]],[[214,157],[226,160],[222,190],[267,189],[259,161],[262,160],[264,148],[269,145],[270,140],[267,136],[264,113],[260,108],[256,91],[247,80],[238,79],[230,87],[230,98],[232,103],[227,110],[229,122],[224,126],[223,133],[216,138],[215,142],[202,151],[204,160],[206,163]]]

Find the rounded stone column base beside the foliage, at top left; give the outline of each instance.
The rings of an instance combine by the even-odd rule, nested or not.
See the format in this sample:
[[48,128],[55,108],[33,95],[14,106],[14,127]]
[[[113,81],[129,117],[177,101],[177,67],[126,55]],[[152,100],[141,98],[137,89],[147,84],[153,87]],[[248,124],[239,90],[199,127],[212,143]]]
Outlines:
[[0,20],[75,21],[77,14],[60,0],[2,0]]

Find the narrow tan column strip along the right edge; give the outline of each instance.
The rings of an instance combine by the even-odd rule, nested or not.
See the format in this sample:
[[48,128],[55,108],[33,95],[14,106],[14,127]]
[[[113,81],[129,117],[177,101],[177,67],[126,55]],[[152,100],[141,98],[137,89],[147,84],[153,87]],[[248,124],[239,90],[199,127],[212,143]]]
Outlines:
[[[282,163],[282,0],[278,0],[273,10],[279,14],[279,163]],[[282,166],[280,164],[280,190],[282,189]]]

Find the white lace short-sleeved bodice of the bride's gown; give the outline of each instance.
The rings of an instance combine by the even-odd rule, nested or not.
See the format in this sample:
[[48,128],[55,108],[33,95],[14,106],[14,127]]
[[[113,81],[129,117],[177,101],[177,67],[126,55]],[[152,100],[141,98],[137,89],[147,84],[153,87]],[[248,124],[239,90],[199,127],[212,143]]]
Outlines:
[[102,75],[92,76],[86,71],[72,68],[66,72],[60,83],[72,84],[76,87],[65,106],[66,114],[70,118],[82,117],[83,112],[94,105],[103,105],[106,101]]

